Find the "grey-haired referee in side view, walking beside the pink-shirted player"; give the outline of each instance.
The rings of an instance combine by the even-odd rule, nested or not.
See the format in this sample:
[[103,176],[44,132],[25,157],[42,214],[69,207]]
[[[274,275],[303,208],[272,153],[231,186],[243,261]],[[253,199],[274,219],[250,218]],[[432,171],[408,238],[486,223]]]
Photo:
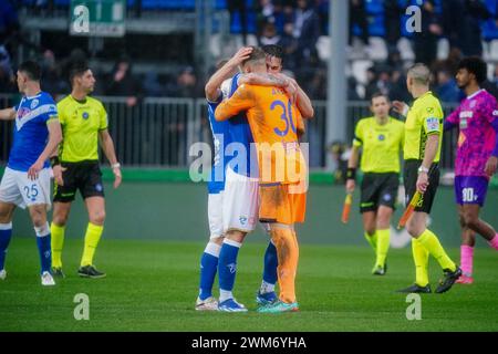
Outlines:
[[443,268],[444,278],[436,293],[448,291],[461,275],[461,270],[446,254],[438,238],[427,229],[427,219],[439,185],[439,157],[443,143],[443,108],[429,91],[430,71],[424,64],[415,64],[407,74],[408,92],[415,98],[412,107],[394,102],[395,110],[406,116],[404,147],[404,184],[406,202],[416,191],[422,198],[406,227],[412,236],[412,250],[416,268],[414,285],[400,290],[406,293],[429,293],[428,256]]

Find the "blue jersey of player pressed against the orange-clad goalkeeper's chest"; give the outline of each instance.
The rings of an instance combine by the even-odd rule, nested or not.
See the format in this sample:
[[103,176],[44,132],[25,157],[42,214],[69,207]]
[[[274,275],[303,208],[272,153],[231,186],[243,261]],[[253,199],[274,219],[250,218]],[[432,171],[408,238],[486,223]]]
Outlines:
[[[240,73],[236,74],[231,81],[229,93],[230,97],[239,87],[238,81],[240,75]],[[243,156],[245,158],[241,159],[240,156],[238,156],[239,153],[236,153],[237,156],[234,156],[227,165],[230,166],[230,168],[239,175],[258,178],[258,156],[256,155],[256,150],[253,152],[251,149],[251,144],[255,143],[255,139],[252,138],[251,128],[249,126],[249,121],[246,117],[246,113],[241,113],[238,116],[228,119],[228,124],[230,140],[232,143],[240,144],[240,147],[243,146],[246,155]]]

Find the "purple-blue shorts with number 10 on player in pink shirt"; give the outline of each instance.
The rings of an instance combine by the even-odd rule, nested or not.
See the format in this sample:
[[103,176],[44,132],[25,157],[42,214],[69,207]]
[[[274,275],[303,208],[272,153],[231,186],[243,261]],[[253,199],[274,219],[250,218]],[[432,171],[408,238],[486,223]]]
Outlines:
[[474,204],[484,207],[489,179],[479,176],[456,176],[455,196],[459,206]]

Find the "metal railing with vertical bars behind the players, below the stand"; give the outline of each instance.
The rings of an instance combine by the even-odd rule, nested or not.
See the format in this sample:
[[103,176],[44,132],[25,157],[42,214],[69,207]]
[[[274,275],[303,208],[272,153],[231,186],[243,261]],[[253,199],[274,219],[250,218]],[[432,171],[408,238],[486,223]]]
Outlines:
[[[125,166],[178,167],[189,166],[189,147],[197,142],[211,144],[207,119],[207,105],[203,98],[148,97],[134,106],[126,97],[98,97],[108,114],[108,129],[116,146],[120,162]],[[13,106],[19,95],[0,95],[0,108]],[[313,102],[315,117],[307,122],[303,137],[310,144],[310,167],[324,168],[329,145],[326,140],[326,102]],[[449,114],[454,105],[445,105]],[[349,144],[354,126],[362,117],[371,115],[367,102],[347,104],[346,127]],[[6,164],[12,144],[12,123],[0,125],[0,162]],[[446,133],[443,145],[443,168],[453,168],[456,133]],[[102,155],[102,154],[101,154]],[[102,157],[103,158],[103,157]]]

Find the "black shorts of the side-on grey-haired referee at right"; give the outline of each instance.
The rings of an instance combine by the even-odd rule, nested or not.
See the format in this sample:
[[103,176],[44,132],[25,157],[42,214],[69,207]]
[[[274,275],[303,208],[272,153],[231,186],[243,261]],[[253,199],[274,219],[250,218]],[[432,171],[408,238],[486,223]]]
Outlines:
[[[408,202],[415,195],[415,191],[417,190],[418,168],[421,167],[421,165],[422,160],[409,159],[405,162],[404,183],[406,205],[408,205]],[[429,169],[429,185],[424,196],[422,197],[422,200],[418,202],[418,206],[415,208],[415,211],[430,214],[434,199],[436,198],[437,187],[439,187],[439,165],[433,164]]]

